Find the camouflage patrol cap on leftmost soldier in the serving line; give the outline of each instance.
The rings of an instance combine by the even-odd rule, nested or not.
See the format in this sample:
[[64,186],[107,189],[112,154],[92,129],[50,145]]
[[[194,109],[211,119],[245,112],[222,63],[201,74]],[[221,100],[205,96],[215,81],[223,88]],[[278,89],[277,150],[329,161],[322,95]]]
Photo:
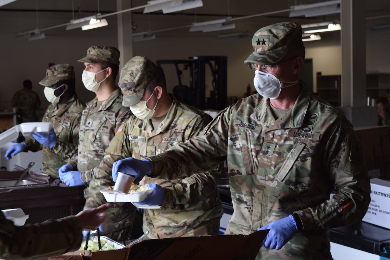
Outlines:
[[69,64],[56,64],[46,69],[46,77],[39,82],[43,86],[51,86],[60,80],[74,79],[73,66]]

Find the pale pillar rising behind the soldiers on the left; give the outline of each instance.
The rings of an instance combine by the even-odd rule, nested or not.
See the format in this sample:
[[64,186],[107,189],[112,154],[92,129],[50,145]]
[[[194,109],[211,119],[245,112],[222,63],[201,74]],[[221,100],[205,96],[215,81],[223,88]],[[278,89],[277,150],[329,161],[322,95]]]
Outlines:
[[[131,8],[131,1],[117,0],[117,11],[122,11]],[[133,33],[131,28],[131,11],[117,14],[118,18],[118,49],[121,52],[119,58],[119,70],[121,70],[132,57],[133,57],[133,40],[131,34]],[[119,71],[120,73],[120,71]]]

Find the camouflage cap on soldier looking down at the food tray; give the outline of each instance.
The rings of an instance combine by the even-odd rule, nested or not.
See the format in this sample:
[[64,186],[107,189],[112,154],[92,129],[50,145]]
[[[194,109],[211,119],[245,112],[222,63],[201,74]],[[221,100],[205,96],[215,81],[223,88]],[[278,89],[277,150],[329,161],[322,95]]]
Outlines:
[[157,65],[144,56],[135,56],[121,69],[119,87],[122,90],[124,107],[136,105],[144,95],[147,84],[157,71]]

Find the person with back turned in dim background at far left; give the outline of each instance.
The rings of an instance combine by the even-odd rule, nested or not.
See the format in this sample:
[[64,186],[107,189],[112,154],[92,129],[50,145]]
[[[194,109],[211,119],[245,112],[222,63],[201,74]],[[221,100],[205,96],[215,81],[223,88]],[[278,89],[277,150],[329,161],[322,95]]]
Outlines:
[[32,91],[31,80],[23,81],[23,89],[14,94],[11,107],[16,108],[18,124],[38,121],[35,110],[41,107],[41,100],[39,95]]

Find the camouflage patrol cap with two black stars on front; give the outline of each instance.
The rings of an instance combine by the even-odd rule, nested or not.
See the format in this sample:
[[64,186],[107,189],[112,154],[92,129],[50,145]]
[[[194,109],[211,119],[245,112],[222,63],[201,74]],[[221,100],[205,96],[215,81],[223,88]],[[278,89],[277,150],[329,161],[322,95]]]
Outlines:
[[303,48],[302,27],[293,21],[263,27],[255,32],[252,46],[255,51],[244,63],[274,65],[283,62]]

